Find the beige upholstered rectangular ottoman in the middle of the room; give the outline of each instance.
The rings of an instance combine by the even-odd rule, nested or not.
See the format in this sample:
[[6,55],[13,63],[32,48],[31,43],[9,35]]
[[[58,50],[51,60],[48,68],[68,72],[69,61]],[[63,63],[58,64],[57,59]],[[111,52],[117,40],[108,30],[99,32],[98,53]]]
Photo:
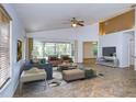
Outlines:
[[84,79],[84,71],[80,69],[63,70],[63,79],[65,81],[72,81],[77,79]]

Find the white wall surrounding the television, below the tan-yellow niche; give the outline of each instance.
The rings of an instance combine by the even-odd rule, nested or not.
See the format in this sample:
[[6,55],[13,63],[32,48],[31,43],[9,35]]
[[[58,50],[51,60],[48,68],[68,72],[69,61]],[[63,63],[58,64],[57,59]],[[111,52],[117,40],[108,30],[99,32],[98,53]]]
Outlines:
[[128,42],[131,34],[123,32],[117,32],[113,34],[107,34],[99,37],[99,57],[102,57],[102,47],[115,46],[116,56],[120,60],[120,67],[128,67]]

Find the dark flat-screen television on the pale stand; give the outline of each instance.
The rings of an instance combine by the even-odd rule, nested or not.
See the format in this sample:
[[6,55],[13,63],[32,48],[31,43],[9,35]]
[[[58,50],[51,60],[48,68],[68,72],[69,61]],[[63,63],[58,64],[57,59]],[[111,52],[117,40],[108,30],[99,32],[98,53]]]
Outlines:
[[116,47],[102,47],[103,56],[113,56],[116,53]]

